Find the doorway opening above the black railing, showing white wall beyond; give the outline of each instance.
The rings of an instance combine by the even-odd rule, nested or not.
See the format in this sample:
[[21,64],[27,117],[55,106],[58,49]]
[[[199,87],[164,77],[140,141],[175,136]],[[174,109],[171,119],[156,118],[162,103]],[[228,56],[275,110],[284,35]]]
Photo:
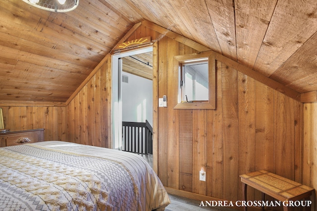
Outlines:
[[153,125],[153,54],[152,51],[122,59],[122,122]]

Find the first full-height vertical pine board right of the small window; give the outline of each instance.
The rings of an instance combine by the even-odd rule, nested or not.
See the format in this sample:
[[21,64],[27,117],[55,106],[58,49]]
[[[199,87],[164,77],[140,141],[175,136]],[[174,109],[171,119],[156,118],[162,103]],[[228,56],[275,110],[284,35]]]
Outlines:
[[[223,171],[224,199],[237,200],[238,175],[238,73],[232,68],[222,65],[222,87],[217,84],[217,96],[222,95],[222,141],[223,141]],[[216,70],[218,71],[218,70]]]

